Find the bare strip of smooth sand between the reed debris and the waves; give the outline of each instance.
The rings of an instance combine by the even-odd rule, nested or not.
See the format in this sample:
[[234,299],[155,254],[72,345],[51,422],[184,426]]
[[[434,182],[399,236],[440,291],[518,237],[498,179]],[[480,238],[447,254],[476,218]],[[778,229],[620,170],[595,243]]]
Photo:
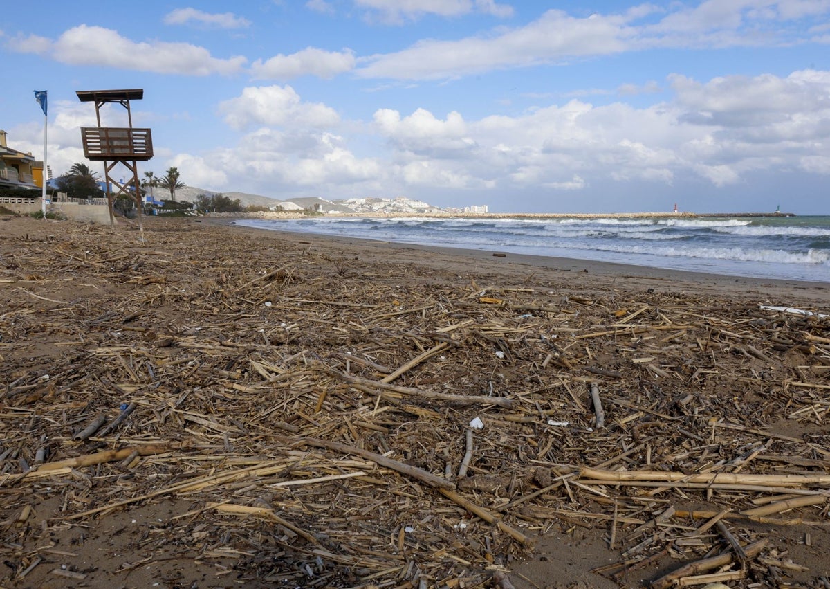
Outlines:
[[[291,236],[292,240],[315,244],[324,243],[324,247],[361,246],[389,249],[394,252],[411,252],[417,257],[417,263],[435,265],[440,263],[444,256],[449,258],[467,258],[475,261],[471,269],[500,272],[505,267],[520,270],[523,267],[544,268],[561,272],[563,277],[590,275],[603,282],[640,281],[642,289],[660,288],[671,292],[689,292],[696,289],[702,293],[719,296],[727,291],[730,296],[743,297],[745,295],[759,295],[764,297],[779,297],[778,302],[785,302],[786,297],[796,293],[803,302],[821,303],[830,298],[830,282],[787,280],[780,278],[743,277],[671,268],[657,268],[636,264],[603,262],[598,260],[584,260],[580,258],[561,258],[554,256],[536,256],[523,253],[504,253],[499,250],[452,248],[447,246],[431,246],[413,243],[398,243],[368,238],[347,238],[325,233],[301,233],[283,229],[265,229],[249,227],[235,223],[235,219],[212,219],[217,225],[236,228],[243,232],[272,238]],[[313,247],[313,245],[312,245]],[[418,253],[432,253],[431,257],[418,256]],[[498,254],[498,255],[495,255]],[[747,296],[747,298],[751,298]]]

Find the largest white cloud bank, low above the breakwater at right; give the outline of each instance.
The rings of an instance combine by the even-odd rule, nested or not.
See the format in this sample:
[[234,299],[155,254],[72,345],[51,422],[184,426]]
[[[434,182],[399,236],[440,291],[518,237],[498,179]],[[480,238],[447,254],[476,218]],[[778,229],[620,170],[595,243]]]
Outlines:
[[374,129],[393,149],[404,184],[455,189],[667,187],[690,176],[722,188],[759,171],[830,173],[827,72],[670,81],[672,100],[645,108],[572,100],[481,120],[381,109]]

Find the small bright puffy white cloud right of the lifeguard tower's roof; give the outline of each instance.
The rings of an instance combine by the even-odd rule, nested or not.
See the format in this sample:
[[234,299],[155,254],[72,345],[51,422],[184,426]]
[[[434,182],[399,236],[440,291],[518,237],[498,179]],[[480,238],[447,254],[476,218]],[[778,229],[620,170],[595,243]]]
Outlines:
[[234,129],[251,125],[323,128],[339,123],[334,109],[301,101],[291,86],[248,86],[241,96],[222,102],[219,112]]

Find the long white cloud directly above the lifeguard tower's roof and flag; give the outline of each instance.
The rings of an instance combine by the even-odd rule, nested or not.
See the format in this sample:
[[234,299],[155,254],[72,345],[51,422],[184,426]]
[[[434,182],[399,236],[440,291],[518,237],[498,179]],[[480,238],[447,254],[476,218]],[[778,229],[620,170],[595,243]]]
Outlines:
[[49,54],[73,66],[110,66],[184,76],[230,75],[241,71],[247,62],[242,56],[219,59],[204,47],[189,43],[134,42],[112,29],[88,25],[72,27],[54,42],[31,36],[11,47],[17,52]]

